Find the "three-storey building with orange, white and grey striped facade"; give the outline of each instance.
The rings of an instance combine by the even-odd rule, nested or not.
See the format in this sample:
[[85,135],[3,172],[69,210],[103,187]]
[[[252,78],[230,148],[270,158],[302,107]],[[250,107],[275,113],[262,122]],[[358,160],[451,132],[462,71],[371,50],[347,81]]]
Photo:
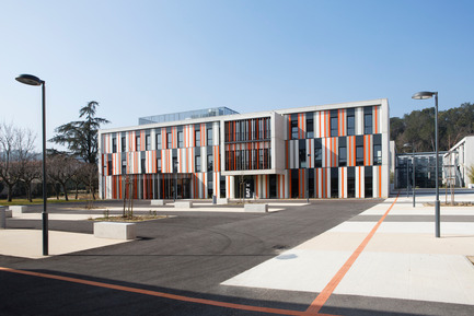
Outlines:
[[386,100],[251,114],[196,113],[206,112],[101,130],[101,198],[389,196]]

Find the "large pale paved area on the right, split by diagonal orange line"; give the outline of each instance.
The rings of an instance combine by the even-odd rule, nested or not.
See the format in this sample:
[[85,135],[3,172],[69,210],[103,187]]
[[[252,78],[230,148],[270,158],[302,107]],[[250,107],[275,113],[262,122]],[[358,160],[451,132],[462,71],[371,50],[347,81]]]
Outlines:
[[[280,255],[287,260],[270,259],[222,284],[321,292],[393,200]],[[474,266],[466,257],[474,255],[474,208],[442,208],[449,221],[441,221],[441,238],[432,212],[408,200],[395,203],[334,293],[474,305]]]

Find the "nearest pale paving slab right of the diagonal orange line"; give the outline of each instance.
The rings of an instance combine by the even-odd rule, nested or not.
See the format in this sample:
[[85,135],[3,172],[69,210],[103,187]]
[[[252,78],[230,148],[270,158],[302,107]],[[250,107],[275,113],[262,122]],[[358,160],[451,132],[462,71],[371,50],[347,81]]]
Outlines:
[[474,305],[474,266],[460,255],[367,251],[334,293]]

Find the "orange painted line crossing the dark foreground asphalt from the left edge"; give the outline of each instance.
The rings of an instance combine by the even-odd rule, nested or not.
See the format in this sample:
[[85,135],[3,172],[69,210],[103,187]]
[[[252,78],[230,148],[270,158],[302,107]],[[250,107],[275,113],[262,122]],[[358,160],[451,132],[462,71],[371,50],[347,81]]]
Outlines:
[[[116,291],[138,293],[138,294],[143,294],[143,295],[151,295],[151,296],[175,300],[175,301],[181,301],[181,302],[211,305],[211,306],[217,306],[217,307],[269,313],[269,314],[277,314],[277,315],[307,315],[305,312],[301,312],[301,311],[290,311],[290,309],[261,307],[261,306],[252,306],[252,305],[244,305],[244,304],[226,303],[226,302],[205,300],[205,299],[196,299],[196,297],[170,294],[170,293],[164,293],[164,292],[157,292],[157,291],[150,291],[150,290],[143,290],[143,289],[137,289],[137,288],[130,288],[130,286],[123,286],[123,285],[96,282],[96,281],[82,280],[82,279],[70,278],[70,277],[55,276],[55,274],[48,274],[48,273],[39,273],[39,272],[25,271],[25,270],[16,270],[16,269],[11,269],[11,268],[0,267],[0,271],[32,276],[32,277],[38,277],[38,278],[46,278],[46,279],[53,279],[53,280],[59,280],[59,281],[66,281],[66,282],[72,282],[72,283],[104,288],[104,289],[111,289],[111,290],[116,290]],[[319,315],[324,315],[324,314],[319,314]],[[326,316],[331,316],[331,315],[326,314]]]

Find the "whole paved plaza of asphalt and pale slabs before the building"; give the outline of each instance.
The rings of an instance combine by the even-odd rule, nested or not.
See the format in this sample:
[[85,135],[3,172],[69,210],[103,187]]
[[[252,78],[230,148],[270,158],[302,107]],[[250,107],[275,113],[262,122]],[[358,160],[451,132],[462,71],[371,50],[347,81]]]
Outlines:
[[[474,201],[474,194],[455,198]],[[46,289],[57,286],[69,315],[473,315],[474,207],[442,206],[436,238],[432,201],[431,194],[415,208],[404,195],[269,201],[268,213],[140,201],[137,212],[169,218],[139,223],[131,242],[92,236],[88,219],[101,209],[54,208],[49,257],[41,256],[37,208],[0,231],[0,281],[9,289],[0,314],[60,315],[44,306],[55,302]],[[116,202],[104,208],[120,212]],[[41,290],[49,303],[19,307]],[[120,302],[129,295],[139,308]]]

